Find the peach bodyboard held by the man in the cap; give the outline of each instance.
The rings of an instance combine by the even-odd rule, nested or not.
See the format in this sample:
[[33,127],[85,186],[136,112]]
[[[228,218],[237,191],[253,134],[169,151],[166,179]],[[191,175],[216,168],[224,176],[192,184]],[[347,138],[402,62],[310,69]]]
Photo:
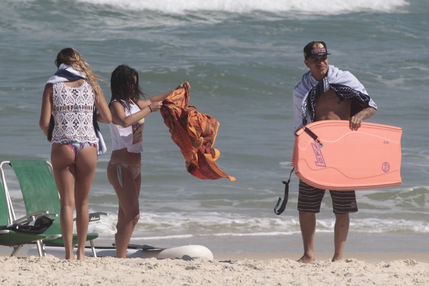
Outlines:
[[295,132],[292,164],[298,178],[320,189],[396,186],[401,135],[402,128],[384,124],[364,122],[352,131],[347,120],[313,122]]

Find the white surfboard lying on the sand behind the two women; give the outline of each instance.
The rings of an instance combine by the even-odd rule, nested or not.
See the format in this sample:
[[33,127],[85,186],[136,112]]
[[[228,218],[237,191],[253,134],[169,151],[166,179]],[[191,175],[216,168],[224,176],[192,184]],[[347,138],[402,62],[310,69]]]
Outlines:
[[[45,247],[46,254],[53,255],[57,258],[64,258],[64,247]],[[95,247],[98,257],[115,257],[116,248],[114,247]],[[38,256],[37,247],[28,249],[28,256]],[[93,256],[90,247],[85,249],[86,256]],[[158,258],[158,259],[183,259],[193,260],[203,258],[213,260],[213,254],[210,249],[202,245],[183,245],[171,248],[156,248],[147,245],[130,245],[127,249],[127,258]]]

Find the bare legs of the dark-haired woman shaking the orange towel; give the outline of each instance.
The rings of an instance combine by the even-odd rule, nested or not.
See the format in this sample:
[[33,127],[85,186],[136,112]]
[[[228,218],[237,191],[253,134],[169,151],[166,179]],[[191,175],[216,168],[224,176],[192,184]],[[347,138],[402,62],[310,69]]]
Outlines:
[[[118,168],[122,173],[122,182],[118,179]],[[119,201],[118,223],[116,225],[116,257],[125,258],[134,227],[140,218],[138,196],[140,194],[141,175],[133,179],[129,169],[111,164],[107,167],[107,178],[116,191]],[[122,187],[121,187],[122,184]]]

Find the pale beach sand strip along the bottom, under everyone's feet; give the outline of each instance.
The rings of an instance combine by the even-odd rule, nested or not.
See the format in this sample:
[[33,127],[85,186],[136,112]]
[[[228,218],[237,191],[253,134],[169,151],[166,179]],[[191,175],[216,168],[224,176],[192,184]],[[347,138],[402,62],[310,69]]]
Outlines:
[[[0,256],[1,285],[429,285],[427,253],[215,254],[214,260]],[[356,258],[353,258],[356,257]]]

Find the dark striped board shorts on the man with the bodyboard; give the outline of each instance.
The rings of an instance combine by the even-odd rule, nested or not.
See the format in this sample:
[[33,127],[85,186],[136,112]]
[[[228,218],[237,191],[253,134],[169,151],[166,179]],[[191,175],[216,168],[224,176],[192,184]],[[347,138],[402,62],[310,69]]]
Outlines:
[[[355,213],[358,211],[356,194],[354,191],[329,191],[332,198],[332,209],[334,213]],[[324,189],[311,187],[300,180],[300,191],[298,195],[298,211],[319,213],[320,204],[325,196]]]

